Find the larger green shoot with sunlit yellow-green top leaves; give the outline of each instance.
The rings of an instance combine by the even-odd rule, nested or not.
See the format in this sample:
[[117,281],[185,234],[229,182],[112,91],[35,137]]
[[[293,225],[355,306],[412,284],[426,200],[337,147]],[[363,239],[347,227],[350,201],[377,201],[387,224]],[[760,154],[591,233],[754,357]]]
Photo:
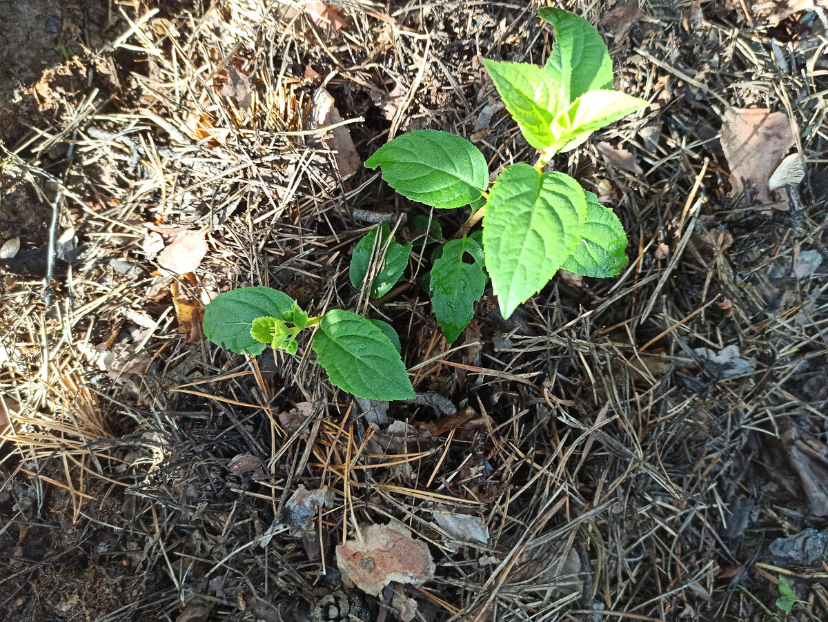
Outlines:
[[[449,343],[469,324],[487,272],[508,317],[560,268],[611,277],[627,263],[627,236],[613,211],[570,176],[544,168],[556,153],[647,102],[612,90],[612,61],[590,22],[557,8],[539,15],[556,34],[546,65],[484,60],[508,112],[540,150],[534,166],[508,166],[489,188],[489,168],[477,147],[436,130],[402,134],[365,162],[380,166],[388,185],[408,199],[441,210],[473,207],[460,239],[446,243],[431,268],[431,300]],[[481,219],[482,249],[469,235]],[[392,263],[390,253],[385,261]],[[394,273],[395,282],[401,275]]]

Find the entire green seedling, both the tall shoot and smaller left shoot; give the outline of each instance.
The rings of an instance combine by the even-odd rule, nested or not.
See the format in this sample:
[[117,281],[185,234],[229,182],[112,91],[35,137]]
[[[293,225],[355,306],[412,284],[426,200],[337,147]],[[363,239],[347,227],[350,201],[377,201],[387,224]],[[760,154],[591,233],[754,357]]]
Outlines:
[[[627,237],[616,215],[561,172],[544,171],[558,152],[647,102],[611,90],[612,62],[595,28],[582,17],[542,8],[556,41],[543,67],[484,60],[494,86],[527,142],[540,150],[534,166],[508,166],[489,188],[489,167],[465,138],[435,130],[403,134],[380,147],[365,166],[408,199],[450,210],[472,206],[457,239],[439,224],[412,218],[418,244],[440,243],[426,281],[437,321],[454,341],[474,315],[489,277],[503,317],[546,285],[559,268],[610,277],[627,263]],[[483,230],[472,231],[482,219]],[[387,223],[354,249],[349,277],[382,297],[402,277],[412,251]],[[267,287],[219,294],[205,310],[208,339],[236,353],[262,354],[270,345],[296,354],[301,330],[315,329],[312,349],[330,382],[360,398],[414,398],[400,341],[392,327],[335,309],[309,317],[291,297]]]

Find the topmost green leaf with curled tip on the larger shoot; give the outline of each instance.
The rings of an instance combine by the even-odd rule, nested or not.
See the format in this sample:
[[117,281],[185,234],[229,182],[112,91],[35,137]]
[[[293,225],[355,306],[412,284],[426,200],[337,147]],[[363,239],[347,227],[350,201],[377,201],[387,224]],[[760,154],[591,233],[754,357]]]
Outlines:
[[613,88],[613,61],[590,22],[560,8],[545,7],[537,14],[555,29],[555,45],[544,70],[556,84],[561,108],[588,91]]

